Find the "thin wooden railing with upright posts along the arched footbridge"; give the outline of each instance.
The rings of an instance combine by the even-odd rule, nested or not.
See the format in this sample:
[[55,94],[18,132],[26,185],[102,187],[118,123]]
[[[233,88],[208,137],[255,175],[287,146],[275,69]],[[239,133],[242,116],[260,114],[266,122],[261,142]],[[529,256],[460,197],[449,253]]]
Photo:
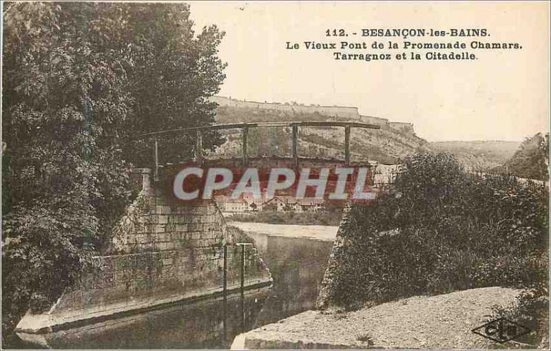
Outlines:
[[300,127],[342,127],[344,128],[344,163],[350,164],[350,138],[351,130],[353,128],[362,129],[380,129],[379,125],[371,125],[368,123],[356,123],[356,122],[335,122],[335,121],[301,121],[301,122],[259,122],[259,123],[231,123],[224,125],[209,125],[205,127],[189,127],[178,129],[167,129],[163,131],[154,131],[147,134],[142,134],[141,138],[154,138],[154,179],[158,180],[159,169],[159,150],[158,140],[163,136],[168,136],[178,133],[189,133],[189,131],[196,131],[196,156],[195,162],[198,165],[203,164],[205,155],[202,147],[202,137],[205,131],[210,130],[222,130],[222,129],[240,129],[242,135],[242,163],[248,164],[249,152],[248,152],[248,140],[249,129],[253,128],[267,128],[267,127],[290,127],[291,128],[291,158],[293,158],[295,166],[298,166],[299,153],[298,153],[298,139]]

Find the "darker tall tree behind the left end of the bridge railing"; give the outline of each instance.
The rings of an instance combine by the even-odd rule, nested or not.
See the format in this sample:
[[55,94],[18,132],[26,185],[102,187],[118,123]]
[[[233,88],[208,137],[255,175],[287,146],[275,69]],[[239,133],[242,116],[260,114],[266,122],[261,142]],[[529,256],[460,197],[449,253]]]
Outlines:
[[[151,164],[152,139],[136,141],[139,134],[214,123],[216,104],[207,97],[218,92],[225,78],[225,64],[216,56],[223,32],[213,25],[195,36],[189,7],[183,4],[134,4],[114,11],[122,23],[115,32],[125,33],[116,50],[128,52],[130,91],[136,101],[127,126],[127,158]],[[195,131],[160,137],[161,162],[193,156],[195,138]],[[221,143],[217,132],[203,136],[205,149]]]

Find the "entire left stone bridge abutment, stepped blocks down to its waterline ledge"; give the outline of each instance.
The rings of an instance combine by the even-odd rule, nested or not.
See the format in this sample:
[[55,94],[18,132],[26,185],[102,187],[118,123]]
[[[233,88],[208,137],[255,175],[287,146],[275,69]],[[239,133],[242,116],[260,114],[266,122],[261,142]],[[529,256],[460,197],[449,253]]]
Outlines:
[[[193,205],[168,200],[149,184],[114,228],[109,255],[94,257],[90,269],[65,289],[48,312],[28,312],[17,326],[23,339],[158,308],[222,292],[224,246],[227,288],[240,288],[241,247],[227,234],[222,213],[212,200]],[[256,248],[245,251],[245,286],[271,284],[269,270]]]

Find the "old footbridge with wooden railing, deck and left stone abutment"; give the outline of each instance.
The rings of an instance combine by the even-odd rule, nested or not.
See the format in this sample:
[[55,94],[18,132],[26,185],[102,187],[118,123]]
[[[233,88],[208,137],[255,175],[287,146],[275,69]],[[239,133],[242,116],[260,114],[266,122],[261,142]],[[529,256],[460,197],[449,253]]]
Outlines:
[[[249,156],[249,131],[262,127],[291,128],[290,158],[267,160]],[[344,160],[300,157],[298,132],[301,127],[344,128]],[[83,270],[80,279],[65,289],[48,312],[29,311],[19,322],[17,334],[24,340],[48,345],[55,339],[57,330],[95,328],[94,323],[98,321],[220,295],[225,301],[233,292],[243,296],[245,290],[271,286],[271,273],[256,249],[245,249],[245,245],[238,242],[214,201],[182,204],[167,196],[162,182],[149,182],[150,173],[155,180],[166,179],[160,170],[167,169],[168,164],[159,162],[158,142],[163,137],[189,135],[190,131],[195,131],[194,162],[201,166],[229,162],[235,167],[237,162],[242,167],[254,164],[261,167],[265,163],[268,167],[297,167],[306,162],[313,167],[337,167],[338,164],[351,164],[350,137],[355,128],[379,129],[376,125],[342,122],[243,123],[156,131],[141,136],[154,140],[154,164],[152,169],[136,170],[143,175],[142,189],[112,229],[109,248],[94,258],[103,268]],[[240,129],[241,157],[237,160],[207,159],[202,136],[209,129]],[[90,327],[84,327],[88,325]]]

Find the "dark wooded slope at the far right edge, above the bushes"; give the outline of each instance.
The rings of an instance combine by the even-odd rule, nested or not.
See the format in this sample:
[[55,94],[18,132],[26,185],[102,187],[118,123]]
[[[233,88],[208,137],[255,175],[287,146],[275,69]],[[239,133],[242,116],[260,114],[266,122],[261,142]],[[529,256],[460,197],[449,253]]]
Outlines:
[[493,173],[510,173],[521,178],[548,180],[549,134],[538,133],[526,138],[512,157],[503,165],[492,169]]

